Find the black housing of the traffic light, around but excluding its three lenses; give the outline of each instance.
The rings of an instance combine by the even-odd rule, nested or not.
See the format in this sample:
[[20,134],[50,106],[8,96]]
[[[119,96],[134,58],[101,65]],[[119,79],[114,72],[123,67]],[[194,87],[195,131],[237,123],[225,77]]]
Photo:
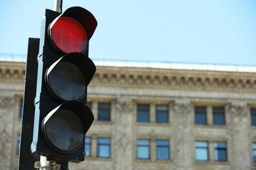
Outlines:
[[[66,12],[67,11],[67,12]],[[49,25],[58,17],[60,16],[69,16],[74,15],[75,19],[77,19],[79,22],[86,22],[85,17],[87,14],[90,14],[87,19],[87,24],[90,23],[92,16],[91,13],[85,9],[82,9],[81,7],[72,7],[68,10],[66,10],[63,14],[60,14],[59,12],[54,12],[53,10],[46,9],[45,10],[45,17],[42,20],[41,25],[41,38],[40,38],[40,44],[39,44],[39,56],[37,58],[38,61],[38,71],[37,71],[37,88],[36,88],[36,97],[35,97],[35,118],[34,118],[34,127],[33,127],[33,143],[31,145],[31,151],[33,156],[39,160],[39,156],[47,156],[47,160],[54,160],[57,163],[62,161],[72,161],[72,162],[80,162],[83,161],[85,158],[85,139],[83,139],[83,142],[75,150],[74,152],[70,153],[64,153],[64,152],[58,152],[58,150],[55,150],[53,147],[49,146],[49,143],[46,141],[45,137],[43,136],[43,130],[42,130],[42,122],[45,116],[51,110],[55,109],[56,107],[62,105],[64,101],[61,101],[60,99],[53,96],[51,92],[49,92],[49,89],[47,88],[47,84],[45,82],[45,73],[51,65],[58,59],[62,58],[64,54],[54,48],[53,42],[51,42],[51,39],[49,38]],[[81,13],[81,14],[80,14]],[[80,19],[79,19],[80,18]],[[93,17],[93,19],[95,19]],[[93,21],[93,22],[96,22]],[[94,23],[95,24],[95,23]],[[96,25],[93,27],[85,27],[89,39],[93,35],[93,32],[96,28]],[[87,48],[85,49],[83,54],[84,58],[87,60],[89,53],[89,43],[87,44]],[[90,59],[91,60],[91,59]],[[72,61],[75,63],[75,61]],[[92,61],[91,61],[92,62]],[[96,67],[93,64],[92,65],[80,65],[79,67],[88,67],[85,69],[88,73],[87,78],[87,84],[86,86],[86,92],[85,95],[81,99],[79,99],[80,103],[83,103],[86,105],[87,102],[87,85],[89,84],[89,81],[91,81],[91,78],[93,77]],[[93,122],[93,113],[91,110],[85,109],[87,112],[81,112],[79,107],[72,107],[72,102],[70,102],[70,105],[65,105],[66,108],[73,109],[74,112],[77,114],[77,116],[83,121],[85,133],[91,126]],[[75,106],[75,105],[74,105]],[[83,110],[84,111],[84,110]],[[63,131],[63,133],[65,133]]]

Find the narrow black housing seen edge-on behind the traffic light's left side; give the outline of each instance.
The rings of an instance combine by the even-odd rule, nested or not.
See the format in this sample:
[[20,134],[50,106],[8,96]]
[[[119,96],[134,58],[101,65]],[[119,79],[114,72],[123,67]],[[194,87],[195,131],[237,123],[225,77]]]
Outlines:
[[28,57],[26,62],[25,88],[22,110],[22,128],[20,133],[20,152],[18,156],[19,170],[34,170],[35,158],[30,151],[33,138],[33,118],[35,106],[35,89],[37,82],[37,55],[39,52],[39,39],[28,40]]

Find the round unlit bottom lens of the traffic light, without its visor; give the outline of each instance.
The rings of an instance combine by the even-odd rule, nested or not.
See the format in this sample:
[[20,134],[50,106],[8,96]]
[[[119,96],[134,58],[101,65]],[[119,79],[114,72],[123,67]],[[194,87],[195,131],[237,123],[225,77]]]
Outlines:
[[83,141],[83,125],[70,110],[58,109],[43,122],[45,137],[51,145],[62,152],[72,152]]

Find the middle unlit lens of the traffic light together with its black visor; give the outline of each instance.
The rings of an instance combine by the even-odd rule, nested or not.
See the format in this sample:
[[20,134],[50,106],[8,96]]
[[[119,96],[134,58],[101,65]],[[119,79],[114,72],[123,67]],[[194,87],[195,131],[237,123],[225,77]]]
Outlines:
[[64,55],[47,69],[45,82],[49,91],[62,101],[81,99],[96,71],[95,64],[83,54]]

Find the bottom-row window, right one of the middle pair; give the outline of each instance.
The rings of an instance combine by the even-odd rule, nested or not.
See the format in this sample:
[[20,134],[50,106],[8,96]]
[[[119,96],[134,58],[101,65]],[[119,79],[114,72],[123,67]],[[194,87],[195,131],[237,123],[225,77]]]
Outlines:
[[169,160],[169,141],[156,141],[158,160]]

